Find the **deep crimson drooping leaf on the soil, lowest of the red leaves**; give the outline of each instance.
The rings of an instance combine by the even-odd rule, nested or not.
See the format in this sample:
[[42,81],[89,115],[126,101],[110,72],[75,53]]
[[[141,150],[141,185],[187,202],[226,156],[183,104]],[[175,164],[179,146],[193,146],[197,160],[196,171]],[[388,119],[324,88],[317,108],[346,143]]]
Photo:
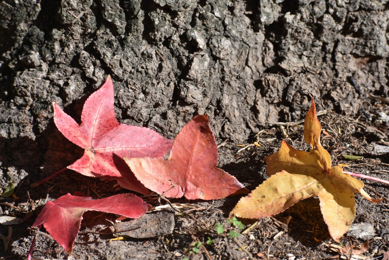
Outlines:
[[96,210],[138,218],[152,208],[133,194],[118,194],[104,199],[72,196],[69,193],[49,201],[40,211],[33,227],[42,225],[70,255],[81,226],[82,214]]

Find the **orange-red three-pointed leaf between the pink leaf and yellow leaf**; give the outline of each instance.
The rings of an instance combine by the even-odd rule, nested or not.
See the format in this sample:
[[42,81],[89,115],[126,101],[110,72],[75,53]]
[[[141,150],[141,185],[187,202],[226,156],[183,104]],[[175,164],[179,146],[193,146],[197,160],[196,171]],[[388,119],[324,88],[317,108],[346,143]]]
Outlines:
[[165,197],[221,199],[248,190],[217,166],[217,145],[206,115],[187,123],[174,139],[167,160],[128,158],[124,161],[145,187]]

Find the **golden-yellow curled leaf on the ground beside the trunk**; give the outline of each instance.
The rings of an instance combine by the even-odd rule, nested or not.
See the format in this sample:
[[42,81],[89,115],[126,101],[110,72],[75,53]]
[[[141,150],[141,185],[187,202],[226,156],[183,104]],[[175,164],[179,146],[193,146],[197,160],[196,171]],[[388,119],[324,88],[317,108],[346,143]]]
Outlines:
[[311,145],[310,152],[296,150],[282,140],[280,150],[265,157],[270,177],[240,199],[230,217],[273,216],[298,201],[317,195],[329,234],[339,242],[355,217],[354,193],[374,203],[382,198],[372,199],[363,190],[362,181],[343,173],[340,166],[331,167],[331,156],[321,146],[320,133],[321,125],[312,98],[304,122],[304,139]]

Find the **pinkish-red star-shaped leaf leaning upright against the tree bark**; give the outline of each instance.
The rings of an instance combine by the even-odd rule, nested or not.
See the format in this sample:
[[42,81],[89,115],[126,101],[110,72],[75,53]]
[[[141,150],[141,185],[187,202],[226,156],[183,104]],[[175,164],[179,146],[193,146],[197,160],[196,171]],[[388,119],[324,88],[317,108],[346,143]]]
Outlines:
[[56,103],[53,102],[53,106],[58,130],[85,149],[84,155],[68,169],[86,176],[117,180],[123,188],[149,194],[122,158],[161,158],[171,147],[172,140],[147,127],[119,124],[115,117],[111,77],[85,101],[80,125]]

